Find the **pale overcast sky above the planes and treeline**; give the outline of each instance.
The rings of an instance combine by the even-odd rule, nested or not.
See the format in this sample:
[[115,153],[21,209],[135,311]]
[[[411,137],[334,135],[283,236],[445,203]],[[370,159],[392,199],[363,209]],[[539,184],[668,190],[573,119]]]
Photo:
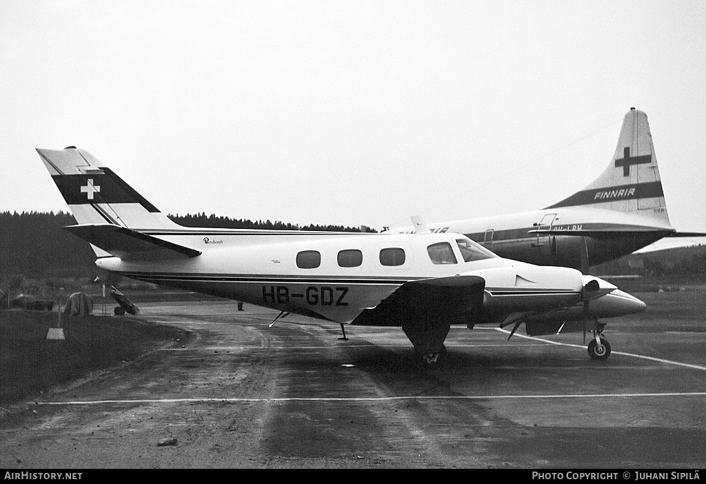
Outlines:
[[706,231],[706,2],[0,0],[0,211],[68,210],[35,147],[162,212],[376,229],[551,205],[647,113]]

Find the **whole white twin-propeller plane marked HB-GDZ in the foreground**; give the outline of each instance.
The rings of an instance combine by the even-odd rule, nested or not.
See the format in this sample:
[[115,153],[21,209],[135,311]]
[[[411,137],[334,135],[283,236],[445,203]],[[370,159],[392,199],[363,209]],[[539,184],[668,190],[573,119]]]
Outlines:
[[[587,330],[607,358],[602,317],[645,303],[566,267],[503,259],[469,238],[432,234],[193,229],[175,224],[85,150],[37,150],[96,264],[141,281],[345,324],[402,327],[426,363],[451,325],[525,323],[530,335]],[[345,333],[344,333],[345,334]]]

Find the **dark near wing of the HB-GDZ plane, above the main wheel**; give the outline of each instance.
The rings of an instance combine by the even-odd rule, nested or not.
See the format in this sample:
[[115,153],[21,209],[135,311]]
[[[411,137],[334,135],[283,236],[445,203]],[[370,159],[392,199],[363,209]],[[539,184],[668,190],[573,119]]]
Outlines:
[[365,309],[352,325],[402,326],[405,321],[464,323],[469,328],[479,320],[485,279],[450,276],[420,279],[402,284],[375,308]]

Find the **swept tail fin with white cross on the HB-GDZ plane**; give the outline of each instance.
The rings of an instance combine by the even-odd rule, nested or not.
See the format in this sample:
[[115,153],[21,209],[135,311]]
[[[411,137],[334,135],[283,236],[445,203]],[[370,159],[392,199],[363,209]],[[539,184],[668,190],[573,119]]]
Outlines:
[[179,227],[90,152],[73,146],[64,150],[37,148],[37,152],[78,224],[130,229]]

